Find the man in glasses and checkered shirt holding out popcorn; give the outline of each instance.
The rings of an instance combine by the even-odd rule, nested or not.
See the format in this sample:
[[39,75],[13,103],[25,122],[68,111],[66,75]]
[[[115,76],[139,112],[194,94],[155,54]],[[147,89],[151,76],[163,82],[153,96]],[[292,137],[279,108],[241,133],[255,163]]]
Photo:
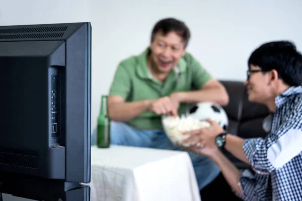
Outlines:
[[[226,181],[244,200],[302,200],[302,55],[294,44],[276,41],[261,45],[249,58],[245,81],[250,102],[266,105],[266,138],[243,139],[211,126],[184,133],[189,150],[209,156]],[[250,164],[240,171],[219,148]]]

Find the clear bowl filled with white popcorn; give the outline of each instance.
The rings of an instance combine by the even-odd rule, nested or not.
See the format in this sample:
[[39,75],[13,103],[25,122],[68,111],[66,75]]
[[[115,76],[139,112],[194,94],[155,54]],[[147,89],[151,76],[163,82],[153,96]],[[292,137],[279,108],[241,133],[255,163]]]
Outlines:
[[[198,130],[210,126],[210,123],[207,121],[199,121],[192,117],[185,116],[163,116],[162,124],[166,135],[174,145],[180,145],[184,140],[190,137],[190,135],[184,135],[183,132]],[[183,144],[182,146],[189,147],[196,143],[197,142],[190,142]]]

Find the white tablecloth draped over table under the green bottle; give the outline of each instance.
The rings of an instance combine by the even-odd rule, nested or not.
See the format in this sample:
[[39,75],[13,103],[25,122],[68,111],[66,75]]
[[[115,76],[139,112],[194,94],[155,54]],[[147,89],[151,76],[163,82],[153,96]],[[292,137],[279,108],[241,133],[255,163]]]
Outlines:
[[91,152],[91,201],[200,201],[186,152],[116,145]]

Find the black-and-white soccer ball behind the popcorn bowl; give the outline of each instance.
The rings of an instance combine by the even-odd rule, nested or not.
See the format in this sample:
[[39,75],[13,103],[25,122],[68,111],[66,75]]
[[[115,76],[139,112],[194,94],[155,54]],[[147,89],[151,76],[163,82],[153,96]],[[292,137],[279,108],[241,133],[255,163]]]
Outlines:
[[187,111],[187,117],[192,117],[199,121],[211,119],[216,121],[223,129],[229,126],[228,115],[221,106],[212,102],[200,102]]

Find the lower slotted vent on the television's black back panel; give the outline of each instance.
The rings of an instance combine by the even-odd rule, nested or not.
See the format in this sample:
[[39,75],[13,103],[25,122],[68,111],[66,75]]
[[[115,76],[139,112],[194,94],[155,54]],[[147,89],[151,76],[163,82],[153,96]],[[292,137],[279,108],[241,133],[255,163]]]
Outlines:
[[39,152],[0,146],[0,166],[39,169]]

